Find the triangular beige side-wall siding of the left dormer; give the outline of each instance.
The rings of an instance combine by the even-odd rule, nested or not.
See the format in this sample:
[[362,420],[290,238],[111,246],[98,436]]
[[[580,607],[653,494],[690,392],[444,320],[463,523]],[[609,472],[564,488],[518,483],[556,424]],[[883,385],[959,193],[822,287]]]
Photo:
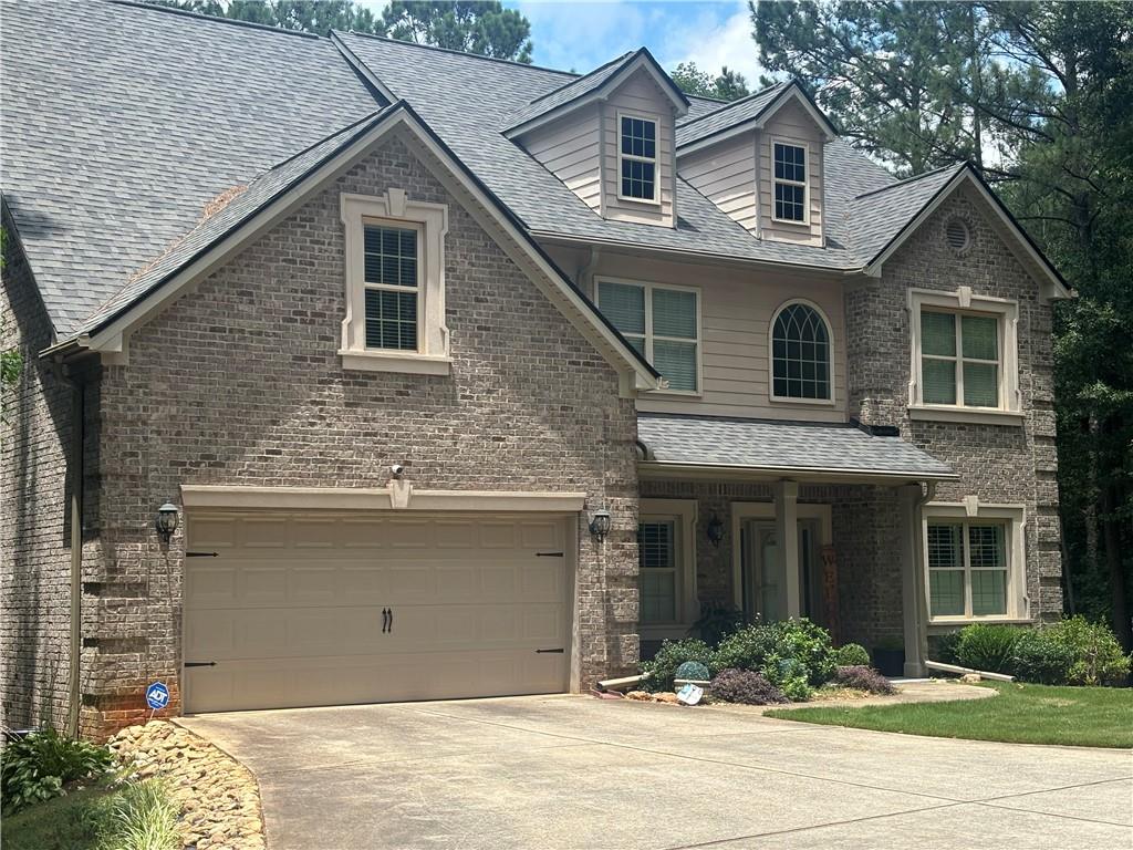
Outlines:
[[602,212],[599,107],[587,107],[522,138],[527,152],[587,206]]

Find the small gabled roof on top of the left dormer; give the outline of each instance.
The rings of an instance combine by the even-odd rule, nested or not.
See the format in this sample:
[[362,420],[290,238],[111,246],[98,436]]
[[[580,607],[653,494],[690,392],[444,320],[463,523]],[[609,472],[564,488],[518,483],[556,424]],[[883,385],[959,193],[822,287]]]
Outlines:
[[667,96],[673,111],[678,116],[687,114],[689,111],[689,99],[676,87],[672,78],[665,74],[647,49],[623,53],[616,59],[595,68],[589,74],[585,74],[577,79],[572,79],[564,85],[542,94],[526,105],[518,109],[504,122],[503,133],[509,138],[514,138],[528,130],[553,121],[562,116],[573,112],[576,109],[585,107],[594,101],[605,99],[624,83],[630,76],[639,70],[644,70]]

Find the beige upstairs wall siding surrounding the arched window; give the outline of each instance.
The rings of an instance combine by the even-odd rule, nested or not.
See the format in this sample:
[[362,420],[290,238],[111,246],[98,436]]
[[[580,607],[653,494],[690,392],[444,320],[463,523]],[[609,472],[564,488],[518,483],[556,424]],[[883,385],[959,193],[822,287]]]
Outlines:
[[[560,266],[576,275],[589,254],[550,246]],[[845,313],[842,284],[800,273],[755,272],[603,253],[594,275],[580,282],[594,295],[594,278],[700,289],[701,392],[699,397],[642,393],[644,411],[747,416],[763,419],[844,422],[846,417]],[[830,322],[833,405],[772,401],[768,330],[778,307],[792,298],[817,304]],[[600,307],[600,305],[599,305]]]

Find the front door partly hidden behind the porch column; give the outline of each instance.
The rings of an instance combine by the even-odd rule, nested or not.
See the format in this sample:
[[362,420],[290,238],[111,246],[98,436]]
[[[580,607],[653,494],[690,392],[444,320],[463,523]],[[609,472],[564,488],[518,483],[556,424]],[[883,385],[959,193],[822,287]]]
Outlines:
[[740,539],[743,614],[750,622],[774,622],[800,614],[813,619],[821,612],[818,538],[817,520],[799,520],[799,601],[802,610],[789,611],[786,570],[780,556],[775,521],[749,519],[743,524]]

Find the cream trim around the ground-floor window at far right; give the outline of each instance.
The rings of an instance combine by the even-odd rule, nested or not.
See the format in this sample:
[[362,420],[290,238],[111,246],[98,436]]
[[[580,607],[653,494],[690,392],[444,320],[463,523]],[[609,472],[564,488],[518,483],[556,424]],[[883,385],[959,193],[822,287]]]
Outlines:
[[[960,522],[1006,522],[1005,552],[1007,555],[1007,612],[1004,614],[963,617],[932,617],[929,597],[928,526],[931,521]],[[930,626],[948,626],[971,622],[1028,622],[1031,619],[1031,601],[1026,595],[1026,505],[982,504],[976,496],[966,496],[963,502],[929,502],[921,508],[921,563],[925,575],[925,611]],[[968,543],[964,541],[966,551]],[[968,559],[964,559],[964,610],[972,610],[971,583],[968,578]]]

